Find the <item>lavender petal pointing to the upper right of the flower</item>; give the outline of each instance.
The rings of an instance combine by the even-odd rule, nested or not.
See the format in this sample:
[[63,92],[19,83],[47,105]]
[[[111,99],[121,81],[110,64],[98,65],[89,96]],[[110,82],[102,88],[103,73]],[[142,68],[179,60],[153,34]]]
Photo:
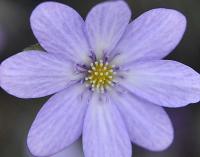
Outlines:
[[180,42],[186,19],[171,9],[150,10],[131,24],[113,51],[113,64],[128,64],[136,60],[161,59]]

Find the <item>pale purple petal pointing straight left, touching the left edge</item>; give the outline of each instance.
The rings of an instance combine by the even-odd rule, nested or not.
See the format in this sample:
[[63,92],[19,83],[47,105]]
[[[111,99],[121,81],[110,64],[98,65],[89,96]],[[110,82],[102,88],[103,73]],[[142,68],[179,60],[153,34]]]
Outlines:
[[51,54],[26,51],[1,64],[1,87],[20,98],[37,98],[58,92],[79,77],[73,66]]

